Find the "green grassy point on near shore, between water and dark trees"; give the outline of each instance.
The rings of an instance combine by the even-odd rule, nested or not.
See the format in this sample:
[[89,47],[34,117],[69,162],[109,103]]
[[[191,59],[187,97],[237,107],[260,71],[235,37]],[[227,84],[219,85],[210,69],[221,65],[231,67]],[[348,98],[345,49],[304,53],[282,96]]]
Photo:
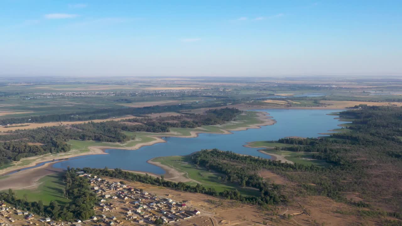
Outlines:
[[[160,162],[166,166],[174,167],[178,171],[185,172],[190,179],[198,181],[204,187],[213,187],[216,191],[235,190],[237,189],[243,195],[259,195],[259,191],[252,188],[240,187],[237,183],[222,182],[219,177],[224,175],[207,171],[205,168],[197,168],[193,164],[189,164],[189,156],[167,156],[154,158],[155,162]],[[189,185],[196,185],[196,182],[186,182]]]

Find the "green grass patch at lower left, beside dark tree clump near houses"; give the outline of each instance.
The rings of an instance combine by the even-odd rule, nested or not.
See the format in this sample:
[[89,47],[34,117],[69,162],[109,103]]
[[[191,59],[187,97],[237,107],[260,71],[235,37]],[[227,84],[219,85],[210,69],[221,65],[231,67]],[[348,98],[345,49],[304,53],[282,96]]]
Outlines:
[[38,187],[33,189],[14,190],[15,195],[23,199],[27,194],[28,201],[42,200],[45,205],[49,205],[50,201],[55,200],[60,204],[68,203],[70,200],[64,198],[65,183],[62,179],[62,173],[56,173],[41,178]]

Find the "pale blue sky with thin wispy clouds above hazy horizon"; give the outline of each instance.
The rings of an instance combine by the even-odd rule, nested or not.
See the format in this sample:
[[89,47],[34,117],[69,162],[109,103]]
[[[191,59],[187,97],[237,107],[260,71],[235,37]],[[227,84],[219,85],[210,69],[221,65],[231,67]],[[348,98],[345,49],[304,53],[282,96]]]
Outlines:
[[1,76],[402,73],[402,1],[397,0],[0,0],[0,5]]

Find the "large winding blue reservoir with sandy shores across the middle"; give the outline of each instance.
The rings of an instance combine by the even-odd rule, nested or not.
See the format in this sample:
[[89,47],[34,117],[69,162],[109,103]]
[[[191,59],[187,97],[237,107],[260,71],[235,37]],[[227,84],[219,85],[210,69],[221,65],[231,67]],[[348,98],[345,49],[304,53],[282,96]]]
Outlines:
[[269,109],[258,110],[268,112],[277,121],[274,125],[263,126],[260,129],[233,131],[233,134],[199,134],[196,138],[166,137],[166,143],[144,146],[138,150],[106,150],[109,154],[90,155],[81,158],[57,162],[56,168],[91,167],[91,168],[122,168],[133,171],[146,171],[164,174],[158,166],[148,164],[146,161],[158,156],[187,155],[201,149],[218,148],[233,151],[239,154],[248,154],[270,158],[261,154],[257,148],[246,148],[246,142],[260,140],[278,140],[287,136],[317,137],[330,129],[339,128],[338,120],[334,116],[326,115],[334,110],[305,110],[305,109]]

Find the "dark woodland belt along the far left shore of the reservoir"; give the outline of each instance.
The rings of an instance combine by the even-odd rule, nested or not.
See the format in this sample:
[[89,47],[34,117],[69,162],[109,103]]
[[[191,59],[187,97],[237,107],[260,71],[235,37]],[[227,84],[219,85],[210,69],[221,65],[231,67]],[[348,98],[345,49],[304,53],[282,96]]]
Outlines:
[[[223,108],[209,110],[205,115],[191,115],[194,121],[182,121],[181,123],[193,123],[194,125],[216,125],[234,119],[240,110],[235,108]],[[135,118],[133,121],[137,120]],[[178,126],[175,123],[165,121],[152,121],[152,119],[138,119],[143,124],[131,125],[130,119],[123,121],[88,122],[67,126],[40,127],[11,131],[0,136],[0,166],[19,161],[21,158],[43,155],[47,153],[67,152],[71,149],[66,144],[69,140],[94,140],[99,142],[127,142],[135,137],[126,135],[123,131],[145,131],[153,133],[169,132],[170,127]],[[167,119],[158,119],[166,120]],[[179,126],[181,127],[181,126]],[[40,143],[42,145],[30,145]]]

